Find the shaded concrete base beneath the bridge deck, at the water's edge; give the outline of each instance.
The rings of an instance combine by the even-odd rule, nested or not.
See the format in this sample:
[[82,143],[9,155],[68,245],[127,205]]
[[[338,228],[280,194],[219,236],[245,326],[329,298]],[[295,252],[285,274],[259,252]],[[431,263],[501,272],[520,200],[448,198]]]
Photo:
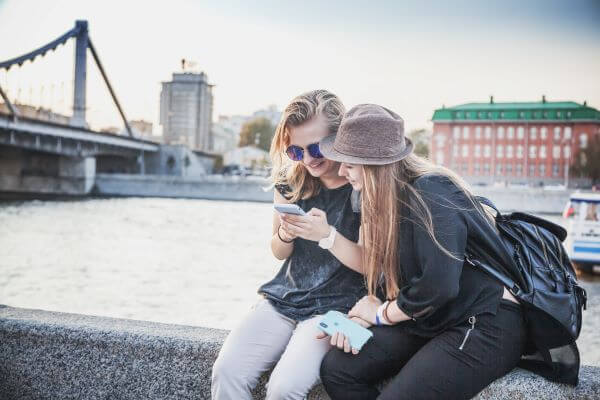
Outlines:
[[87,195],[95,173],[93,157],[65,157],[0,146],[0,192]]

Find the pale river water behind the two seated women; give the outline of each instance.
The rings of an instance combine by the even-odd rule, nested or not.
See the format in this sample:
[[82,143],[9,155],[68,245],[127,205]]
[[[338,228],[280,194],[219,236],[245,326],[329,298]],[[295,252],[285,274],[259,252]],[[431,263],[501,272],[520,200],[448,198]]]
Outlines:
[[[0,304],[230,329],[281,264],[271,218],[270,204],[249,202],[0,203]],[[581,279],[578,344],[600,366],[600,278]]]

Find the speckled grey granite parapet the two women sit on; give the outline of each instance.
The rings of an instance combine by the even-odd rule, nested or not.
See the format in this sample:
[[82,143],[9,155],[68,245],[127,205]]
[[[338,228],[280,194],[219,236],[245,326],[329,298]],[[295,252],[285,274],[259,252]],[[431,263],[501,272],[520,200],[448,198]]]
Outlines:
[[[227,331],[0,305],[0,398],[210,399]],[[427,377],[431,379],[431,377]],[[264,398],[267,376],[254,393]],[[515,370],[478,399],[598,399],[600,368],[576,388]],[[328,399],[321,386],[309,399]]]

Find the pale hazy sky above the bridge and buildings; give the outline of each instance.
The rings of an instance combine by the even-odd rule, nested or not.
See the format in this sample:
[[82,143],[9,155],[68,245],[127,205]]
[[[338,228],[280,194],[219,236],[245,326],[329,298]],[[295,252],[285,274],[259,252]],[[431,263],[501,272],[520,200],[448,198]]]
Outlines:
[[[195,61],[214,87],[214,117],[251,114],[325,88],[350,108],[384,105],[408,130],[436,108],[571,100],[600,108],[599,0],[86,1],[0,0],[0,61],[89,23],[129,119],[160,133],[160,83]],[[0,71],[11,99],[70,112],[72,40]],[[88,58],[88,122],[121,126]]]

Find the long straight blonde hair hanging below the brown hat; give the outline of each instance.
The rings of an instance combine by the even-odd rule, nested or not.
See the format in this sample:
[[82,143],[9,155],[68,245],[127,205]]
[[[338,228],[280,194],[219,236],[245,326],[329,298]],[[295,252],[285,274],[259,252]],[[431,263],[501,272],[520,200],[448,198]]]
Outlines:
[[[435,165],[415,154],[387,165],[363,165],[363,188],[361,195],[361,226],[365,251],[363,265],[365,280],[370,295],[377,293],[380,277],[385,281],[388,299],[398,296],[401,286],[398,276],[398,240],[401,239],[400,219],[406,218],[410,210],[417,221],[425,228],[432,241],[450,258],[462,259],[463,255],[452,254],[437,240],[434,234],[431,212],[422,196],[412,186],[412,182],[425,174],[435,173],[446,176],[462,189],[475,209],[485,214],[493,224],[493,214],[476,205],[467,183],[447,168]],[[478,204],[478,203],[477,203]],[[456,205],[459,207],[459,205]],[[464,206],[463,206],[464,207]],[[386,210],[386,217],[381,217]]]

